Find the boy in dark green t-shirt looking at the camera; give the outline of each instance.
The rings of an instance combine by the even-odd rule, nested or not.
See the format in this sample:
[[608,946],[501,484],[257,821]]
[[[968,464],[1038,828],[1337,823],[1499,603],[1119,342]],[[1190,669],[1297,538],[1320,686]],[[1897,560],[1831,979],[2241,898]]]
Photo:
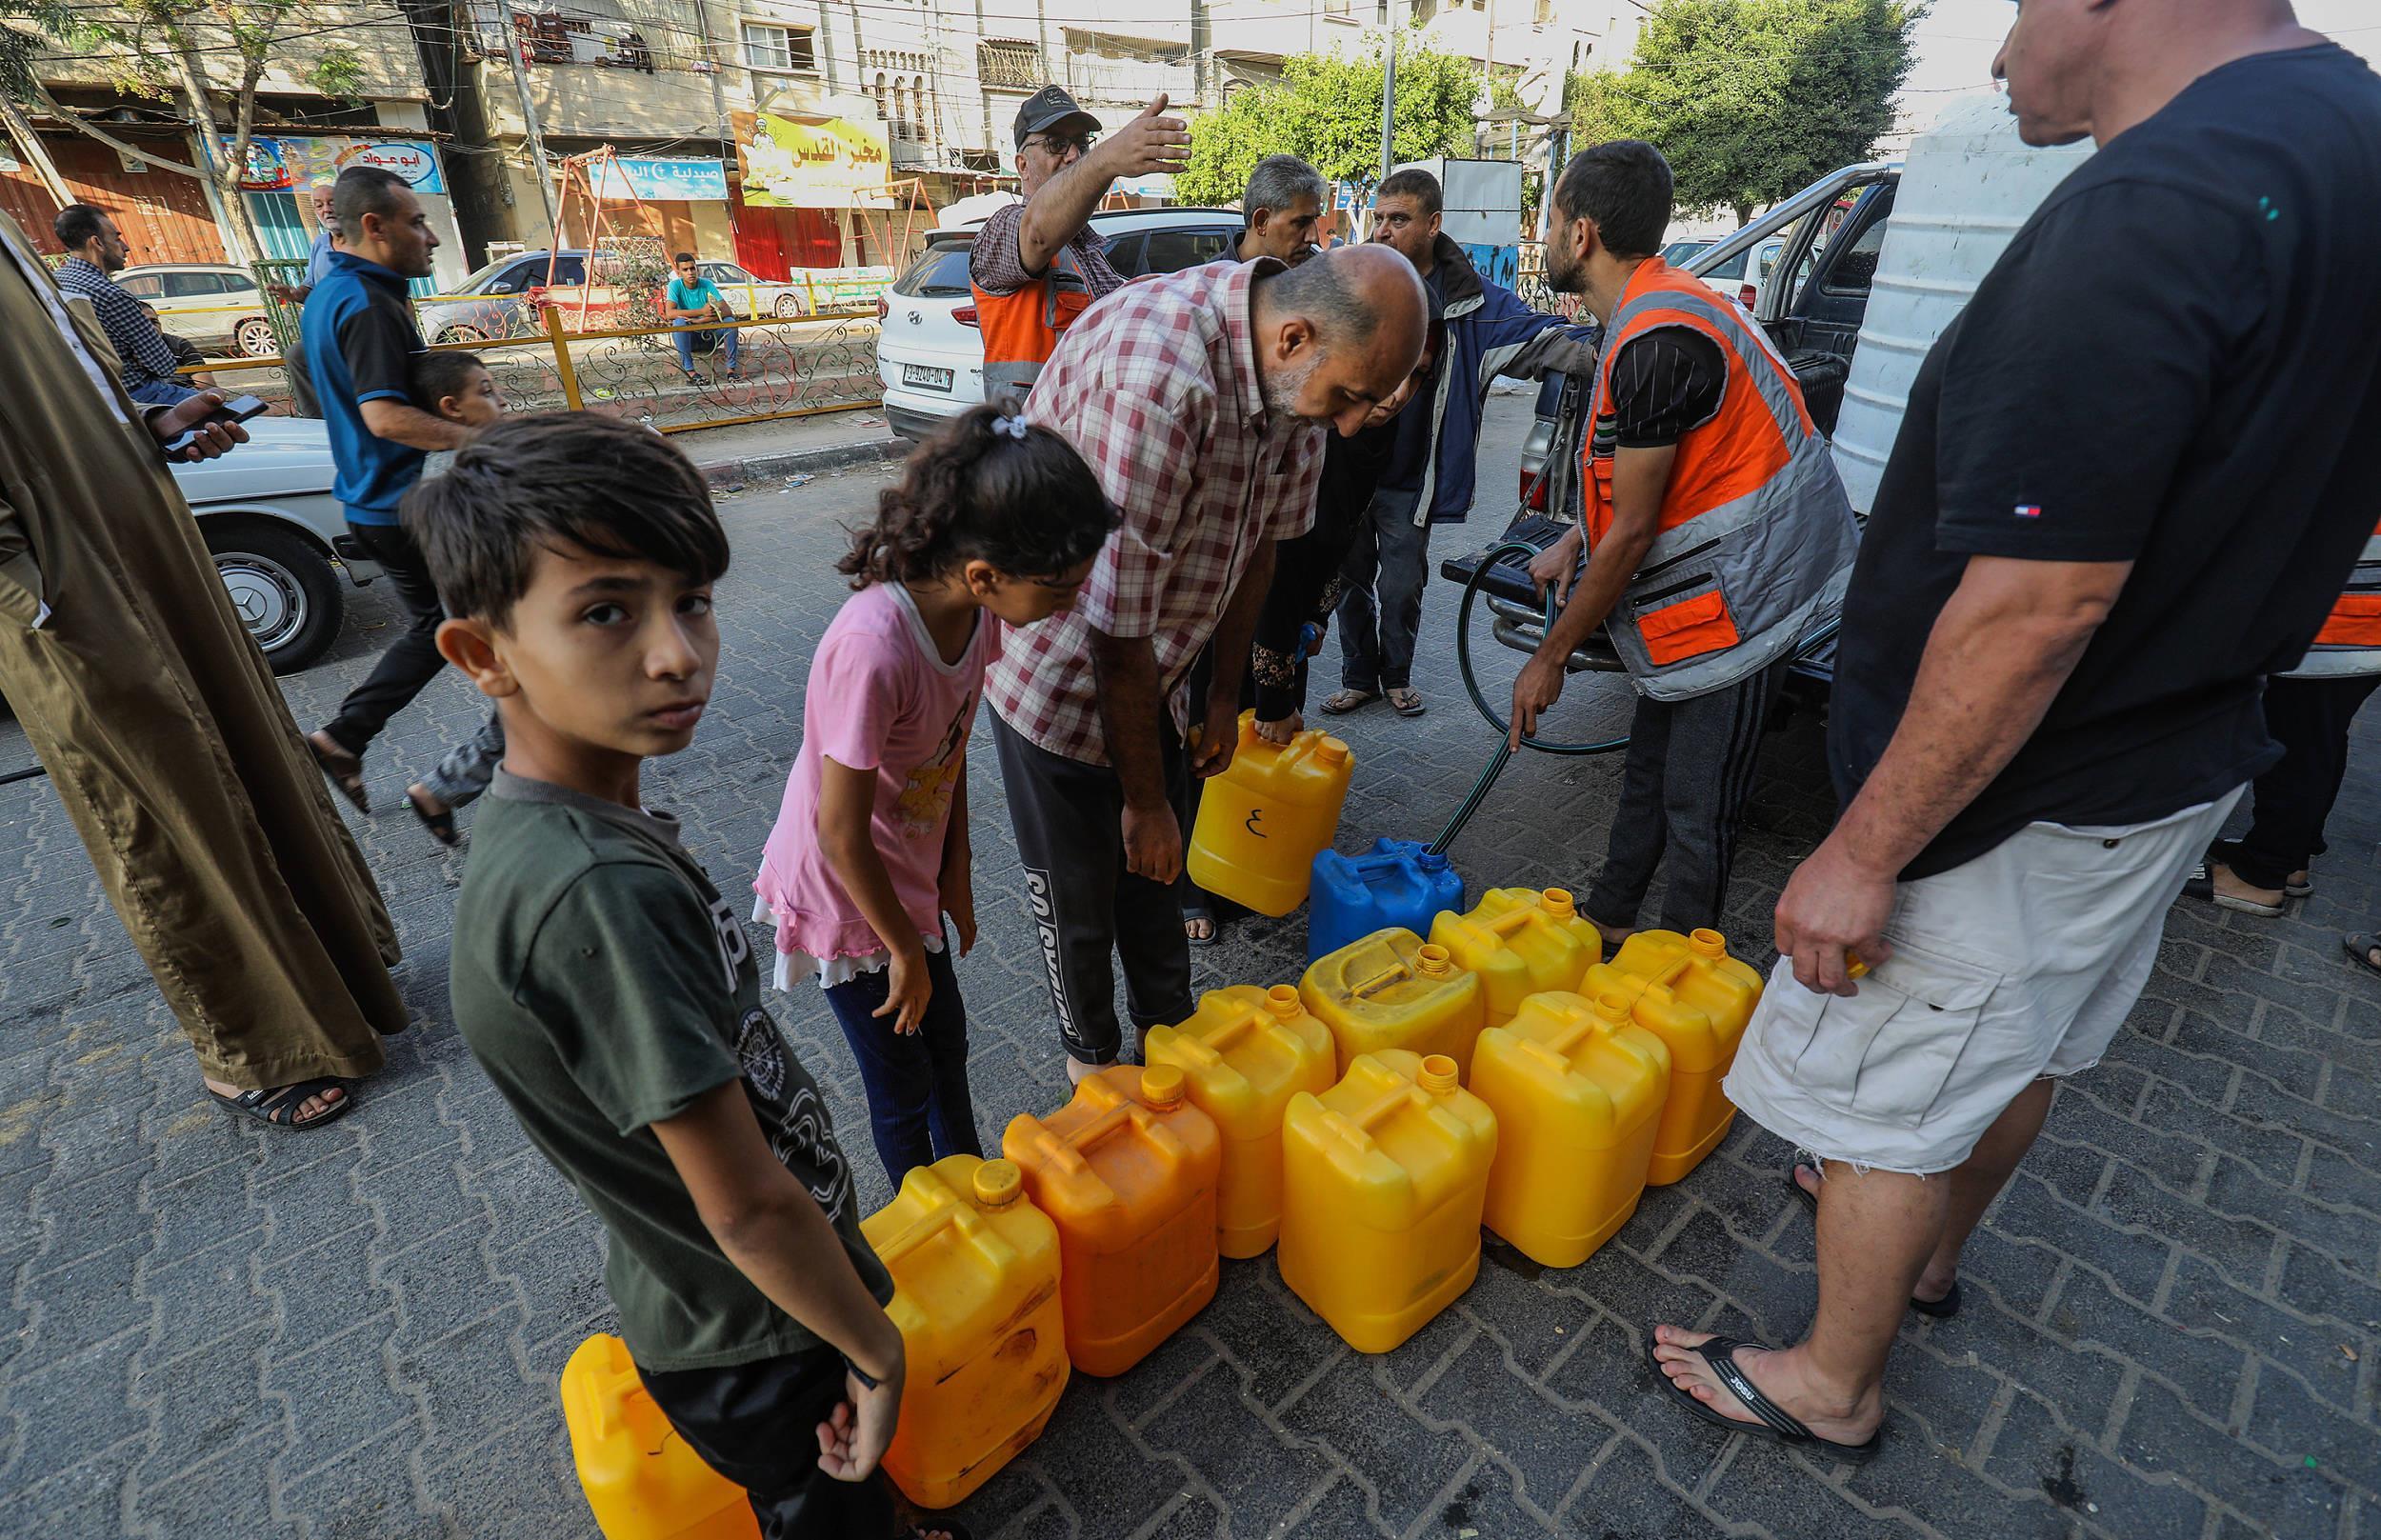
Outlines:
[[612,417],[514,417],[407,497],[405,528],[450,616],[438,650],[505,719],[455,1023],[602,1219],[629,1357],[762,1535],[888,1538],[893,1278],[736,909],[638,802],[719,662],[729,543],[702,476]]

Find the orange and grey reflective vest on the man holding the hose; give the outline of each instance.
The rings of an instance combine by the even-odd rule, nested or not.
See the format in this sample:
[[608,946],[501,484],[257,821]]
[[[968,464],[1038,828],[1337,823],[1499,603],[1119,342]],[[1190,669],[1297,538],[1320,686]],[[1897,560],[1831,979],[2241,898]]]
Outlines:
[[1786,359],[1750,314],[1652,257],[1605,326],[1581,447],[1588,543],[1614,517],[1612,362],[1662,326],[1710,338],[1729,378],[1712,421],[1679,440],[1655,540],[1605,631],[1645,695],[1686,700],[1750,678],[1831,621],[1860,528]]

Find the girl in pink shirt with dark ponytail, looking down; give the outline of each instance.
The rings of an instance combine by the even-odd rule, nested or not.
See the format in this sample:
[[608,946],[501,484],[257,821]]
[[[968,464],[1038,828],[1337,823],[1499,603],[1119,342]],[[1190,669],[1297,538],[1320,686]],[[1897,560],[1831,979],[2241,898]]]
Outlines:
[[983,1154],[943,916],[964,957],[967,735],[995,621],[1069,609],[1112,526],[1064,438],[976,407],[910,455],[838,564],[855,593],[810,659],[755,919],[776,921],[776,988],[824,985],[895,1188],[910,1166]]

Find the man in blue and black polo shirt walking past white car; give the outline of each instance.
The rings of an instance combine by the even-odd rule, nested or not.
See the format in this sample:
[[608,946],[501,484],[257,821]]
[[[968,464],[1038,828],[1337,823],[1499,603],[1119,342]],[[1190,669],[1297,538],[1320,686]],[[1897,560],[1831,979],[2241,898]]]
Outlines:
[[424,352],[405,281],[431,271],[438,236],[402,179],[379,167],[350,167],[333,188],[343,250],[312,286],[305,307],[305,357],[314,376],[324,426],[331,428],[336,476],[331,493],[348,514],[348,531],[388,574],[405,602],[407,626],[348,693],[338,714],[307,735],[331,783],[371,812],[364,797],[364,750],[445,666],[438,657],[438,588],[421,550],[398,524],[398,502],[421,478],[431,450],[455,450],[469,428],[424,412],[405,388],[405,371]]

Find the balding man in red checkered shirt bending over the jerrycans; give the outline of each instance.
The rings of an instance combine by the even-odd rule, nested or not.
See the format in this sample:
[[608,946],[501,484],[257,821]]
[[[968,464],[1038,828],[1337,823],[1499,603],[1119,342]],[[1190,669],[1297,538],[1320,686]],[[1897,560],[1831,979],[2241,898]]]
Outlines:
[[1140,1033],[1190,1014],[1171,890],[1190,776],[1231,764],[1274,540],[1314,521],[1324,426],[1364,426],[1424,326],[1421,281],[1386,248],[1207,264],[1093,305],[1033,383],[1026,414],[1121,514],[1074,612],[1012,631],[983,686],[1074,1078],[1124,1052],[1112,952]]

